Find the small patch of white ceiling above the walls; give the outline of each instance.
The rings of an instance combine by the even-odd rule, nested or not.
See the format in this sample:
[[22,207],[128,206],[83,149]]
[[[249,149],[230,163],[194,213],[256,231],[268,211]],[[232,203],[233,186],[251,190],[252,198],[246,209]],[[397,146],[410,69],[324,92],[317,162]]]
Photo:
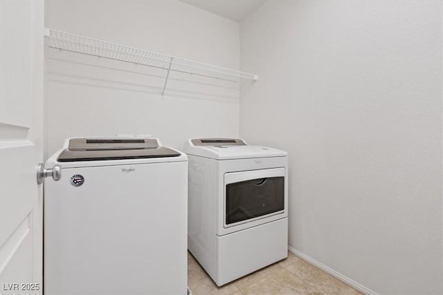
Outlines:
[[266,0],[181,0],[192,6],[213,12],[220,17],[240,22]]

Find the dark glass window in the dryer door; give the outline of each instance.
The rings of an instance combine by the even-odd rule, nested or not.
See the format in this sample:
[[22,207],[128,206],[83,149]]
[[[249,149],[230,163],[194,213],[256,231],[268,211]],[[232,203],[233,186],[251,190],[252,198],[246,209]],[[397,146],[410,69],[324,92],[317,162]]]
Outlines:
[[226,184],[226,225],[284,210],[284,177]]

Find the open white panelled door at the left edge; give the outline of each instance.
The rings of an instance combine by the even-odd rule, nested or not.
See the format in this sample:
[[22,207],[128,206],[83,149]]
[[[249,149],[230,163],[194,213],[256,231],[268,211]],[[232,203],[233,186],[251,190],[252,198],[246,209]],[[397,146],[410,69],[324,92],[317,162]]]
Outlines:
[[42,294],[43,29],[43,1],[0,0],[0,294]]

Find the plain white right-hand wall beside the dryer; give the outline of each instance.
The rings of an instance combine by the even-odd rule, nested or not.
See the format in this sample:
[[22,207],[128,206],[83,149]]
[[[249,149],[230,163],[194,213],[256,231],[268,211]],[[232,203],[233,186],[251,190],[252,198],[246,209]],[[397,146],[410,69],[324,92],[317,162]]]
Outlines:
[[240,40],[240,136],[289,151],[290,246],[442,294],[442,2],[268,1]]

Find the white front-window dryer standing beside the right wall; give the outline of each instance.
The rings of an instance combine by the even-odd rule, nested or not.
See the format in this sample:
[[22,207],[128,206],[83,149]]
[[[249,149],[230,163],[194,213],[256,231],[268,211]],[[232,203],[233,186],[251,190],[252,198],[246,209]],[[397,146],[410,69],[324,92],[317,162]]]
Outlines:
[[287,257],[287,152],[191,139],[188,249],[217,285]]

